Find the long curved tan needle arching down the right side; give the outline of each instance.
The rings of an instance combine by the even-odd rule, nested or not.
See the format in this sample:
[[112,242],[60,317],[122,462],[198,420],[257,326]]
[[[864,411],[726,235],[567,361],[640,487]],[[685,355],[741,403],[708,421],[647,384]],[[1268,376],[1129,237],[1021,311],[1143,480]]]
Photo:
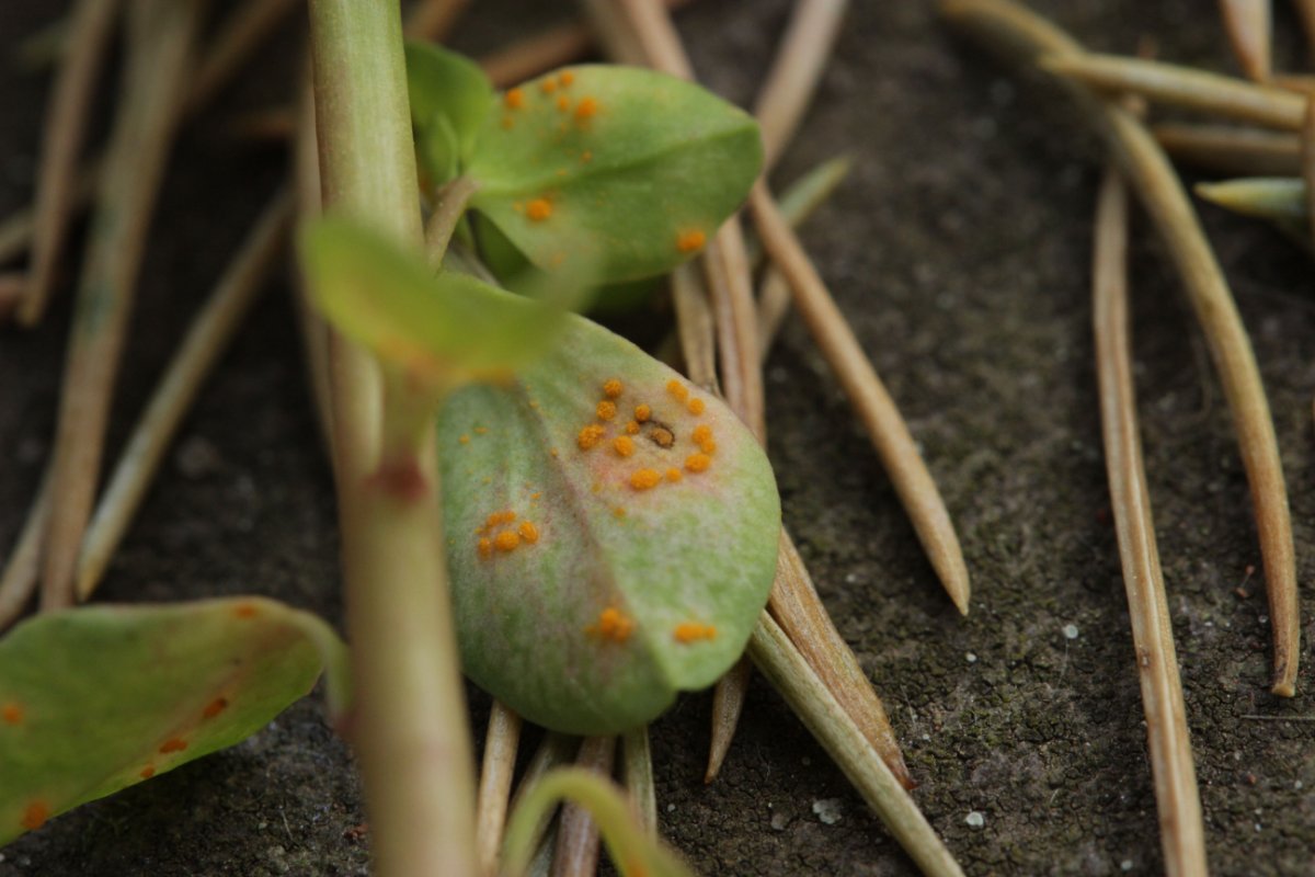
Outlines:
[[[942,11],[956,26],[1024,60],[1060,55],[1065,62],[1081,58],[1082,49],[1077,42],[1009,0],[943,0]],[[1197,321],[1206,334],[1233,415],[1256,509],[1273,619],[1273,692],[1291,697],[1301,646],[1293,529],[1274,423],[1251,341],[1191,202],[1155,138],[1127,110],[1098,100],[1086,88],[1073,83],[1069,93],[1105,135],[1134,184],[1182,276]],[[1299,97],[1295,100],[1301,101]],[[1304,113],[1304,101],[1301,103]]]

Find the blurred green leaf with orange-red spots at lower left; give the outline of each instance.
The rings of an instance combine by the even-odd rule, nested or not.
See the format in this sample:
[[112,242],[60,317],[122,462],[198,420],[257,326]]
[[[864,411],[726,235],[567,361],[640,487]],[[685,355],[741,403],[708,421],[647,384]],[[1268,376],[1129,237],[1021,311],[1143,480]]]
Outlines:
[[0,844],[87,801],[255,734],[346,648],[308,613],[258,597],[92,606],[0,640]]

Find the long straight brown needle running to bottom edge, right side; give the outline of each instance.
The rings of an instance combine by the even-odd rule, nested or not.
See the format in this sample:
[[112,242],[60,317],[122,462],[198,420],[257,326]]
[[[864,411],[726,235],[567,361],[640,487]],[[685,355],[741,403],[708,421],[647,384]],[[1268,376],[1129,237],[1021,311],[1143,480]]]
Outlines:
[[1101,423],[1147,718],[1165,873],[1190,877],[1206,873],[1205,826],[1137,435],[1128,331],[1127,212],[1123,181],[1116,171],[1109,171],[1097,206],[1091,276]]

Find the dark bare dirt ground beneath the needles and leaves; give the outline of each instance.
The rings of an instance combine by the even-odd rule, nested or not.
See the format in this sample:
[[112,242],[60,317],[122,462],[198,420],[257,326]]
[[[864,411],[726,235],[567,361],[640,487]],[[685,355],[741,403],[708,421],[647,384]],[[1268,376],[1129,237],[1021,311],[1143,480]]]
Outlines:
[[[3,4],[4,63],[63,5]],[[508,5],[480,4],[459,45],[484,50],[554,20],[548,4]],[[885,698],[920,782],[917,799],[968,873],[1156,873],[1091,366],[1099,145],[1056,93],[953,39],[930,3],[852,5],[776,181],[836,154],[855,160],[803,237],[944,492],[973,576],[972,614],[960,618],[939,592],[798,325],[767,369],[786,523]],[[1035,5],[1101,49],[1132,51],[1149,34],[1162,58],[1232,68],[1214,4]],[[1279,58],[1299,66],[1295,20],[1287,4],[1276,5]],[[679,22],[704,79],[748,103],[786,11],[784,0],[704,0]],[[285,34],[181,138],[141,283],[112,452],[280,178],[280,149],[226,131],[243,108],[287,93],[297,45]],[[0,214],[32,197],[47,88],[46,76],[13,66],[0,75]],[[1265,229],[1202,212],[1270,393],[1304,581],[1315,569],[1311,263]],[[1298,697],[1279,701],[1266,692],[1264,581],[1248,577],[1260,556],[1223,396],[1140,217],[1136,239],[1143,437],[1212,870],[1315,873],[1311,623]],[[39,331],[0,331],[4,544],[49,450],[75,276],[71,259],[64,295]],[[188,419],[185,450],[153,489],[101,600],[262,593],[341,623],[333,497],[287,284],[270,293]],[[1315,617],[1308,596],[1303,610]],[[485,709],[472,693],[477,736]],[[321,715],[310,698],[231,751],[55,819],[0,852],[0,877],[364,874],[359,786]],[[707,722],[709,698],[692,696],[654,728],[661,828],[700,872],[914,873],[760,680],[721,780],[705,788]]]

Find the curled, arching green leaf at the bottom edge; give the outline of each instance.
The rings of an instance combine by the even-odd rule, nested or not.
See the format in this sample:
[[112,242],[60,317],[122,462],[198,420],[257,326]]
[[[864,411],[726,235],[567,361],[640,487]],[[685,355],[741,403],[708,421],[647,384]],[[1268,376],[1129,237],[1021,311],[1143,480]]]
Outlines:
[[589,811],[621,877],[693,877],[694,872],[675,852],[644,834],[630,802],[614,784],[583,768],[558,768],[530,786],[508,822],[502,844],[506,877],[526,873],[534,855],[534,828],[559,801],[571,801]]

